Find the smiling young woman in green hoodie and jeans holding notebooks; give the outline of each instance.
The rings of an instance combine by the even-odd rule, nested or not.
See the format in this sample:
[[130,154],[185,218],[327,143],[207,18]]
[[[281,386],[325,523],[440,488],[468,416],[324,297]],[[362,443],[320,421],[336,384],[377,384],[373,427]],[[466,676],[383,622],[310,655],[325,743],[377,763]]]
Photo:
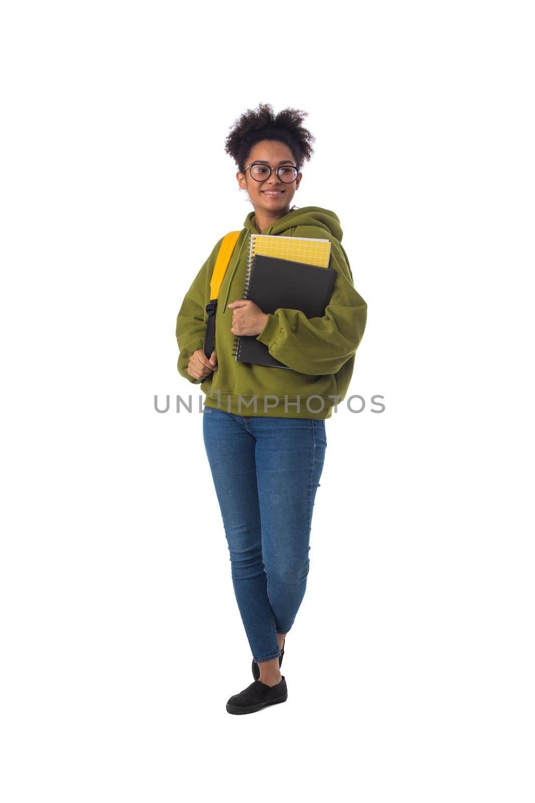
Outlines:
[[[193,280],[176,320],[178,370],[206,394],[206,454],[229,545],[237,605],[253,654],[254,682],[227,703],[248,714],[287,698],[280,666],[309,572],[312,508],[326,451],[325,420],[341,402],[363,337],[367,304],[355,290],[334,212],[290,206],[314,137],[306,112],[270,104],[233,124],[226,152],[253,205],[245,218],[216,312],[207,359],[206,304],[222,238]],[[280,308],[266,314],[242,298],[252,232],[329,239],[336,271],[321,318]],[[230,301],[229,301],[230,300]],[[237,335],[253,335],[288,369],[236,361]]]

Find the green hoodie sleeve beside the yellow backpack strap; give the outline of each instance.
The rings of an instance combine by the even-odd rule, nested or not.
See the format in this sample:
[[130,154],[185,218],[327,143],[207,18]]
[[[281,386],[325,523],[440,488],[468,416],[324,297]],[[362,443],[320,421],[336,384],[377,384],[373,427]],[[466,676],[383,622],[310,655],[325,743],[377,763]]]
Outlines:
[[189,358],[197,349],[205,346],[206,304],[209,301],[210,279],[212,278],[214,258],[219,251],[223,238],[213,248],[201,270],[184,296],[178,316],[176,316],[176,342],[180,350],[178,356],[178,373],[193,385],[201,385],[202,379],[195,379],[188,373]]

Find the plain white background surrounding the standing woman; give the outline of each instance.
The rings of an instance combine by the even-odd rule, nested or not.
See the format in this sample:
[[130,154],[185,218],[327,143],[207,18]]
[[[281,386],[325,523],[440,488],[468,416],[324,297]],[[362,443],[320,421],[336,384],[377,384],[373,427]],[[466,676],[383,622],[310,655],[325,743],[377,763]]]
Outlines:
[[[528,10],[3,6],[6,803],[533,801]],[[233,717],[202,416],[154,396],[201,393],[176,313],[260,102],[309,112],[294,202],[340,218],[386,410],[326,422],[288,702]]]

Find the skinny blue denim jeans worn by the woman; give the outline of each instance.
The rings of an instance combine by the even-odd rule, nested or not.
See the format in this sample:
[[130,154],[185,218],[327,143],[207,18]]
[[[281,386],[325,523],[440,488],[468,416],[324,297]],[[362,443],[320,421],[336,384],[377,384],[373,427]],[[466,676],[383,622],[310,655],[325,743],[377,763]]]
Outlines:
[[205,407],[203,438],[241,621],[254,660],[271,661],[305,594],[325,421]]

